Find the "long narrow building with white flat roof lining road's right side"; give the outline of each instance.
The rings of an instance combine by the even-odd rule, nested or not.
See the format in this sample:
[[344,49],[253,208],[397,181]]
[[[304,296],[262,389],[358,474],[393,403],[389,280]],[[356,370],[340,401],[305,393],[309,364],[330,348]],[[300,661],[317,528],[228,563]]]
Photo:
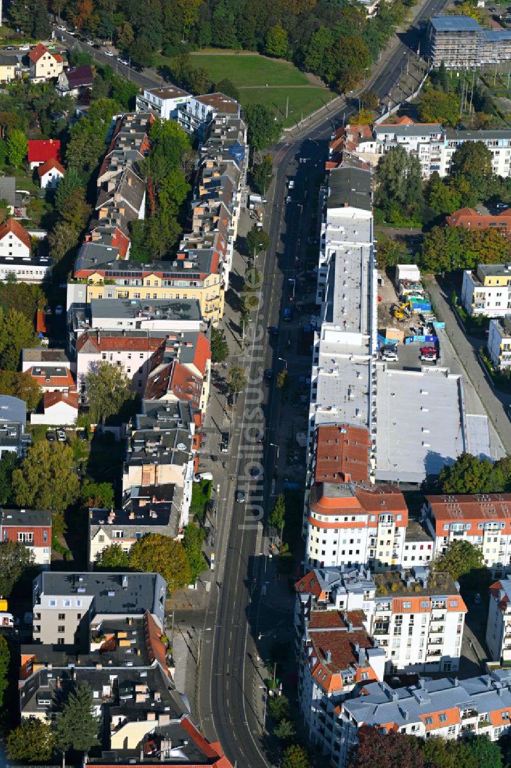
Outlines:
[[[329,171],[328,184],[320,195],[316,303],[321,320],[312,350],[305,516],[313,482],[316,429],[341,424],[371,434],[369,393],[376,352],[371,171],[345,153],[342,164]],[[371,438],[369,462],[372,444]],[[369,478],[372,480],[372,467]]]

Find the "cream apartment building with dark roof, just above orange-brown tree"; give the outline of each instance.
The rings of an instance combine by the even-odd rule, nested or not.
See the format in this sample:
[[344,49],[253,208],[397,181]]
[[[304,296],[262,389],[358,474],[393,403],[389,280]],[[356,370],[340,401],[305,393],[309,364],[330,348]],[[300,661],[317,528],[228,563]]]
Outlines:
[[177,538],[183,531],[182,511],[183,488],[173,483],[131,488],[126,508],[89,509],[90,570],[114,544],[129,552],[136,541],[150,533]]

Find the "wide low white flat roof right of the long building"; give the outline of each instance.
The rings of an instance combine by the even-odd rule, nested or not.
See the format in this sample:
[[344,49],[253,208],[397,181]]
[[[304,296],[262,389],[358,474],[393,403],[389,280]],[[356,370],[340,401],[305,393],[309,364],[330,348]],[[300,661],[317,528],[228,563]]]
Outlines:
[[377,482],[422,482],[463,452],[463,383],[448,369],[379,363],[376,405]]

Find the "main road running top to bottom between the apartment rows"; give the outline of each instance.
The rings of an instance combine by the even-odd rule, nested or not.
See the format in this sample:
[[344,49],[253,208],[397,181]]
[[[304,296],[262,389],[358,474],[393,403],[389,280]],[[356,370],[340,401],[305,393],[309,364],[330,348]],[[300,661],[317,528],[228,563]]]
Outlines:
[[[387,51],[384,66],[372,84],[381,101],[423,45],[420,25],[444,5],[444,0],[427,2],[417,14],[416,26],[402,33]],[[262,372],[265,368],[277,368],[279,357],[285,356],[284,341],[281,349],[281,337],[269,336],[268,328],[282,326],[282,311],[288,305],[288,278],[295,274],[302,223],[302,234],[308,234],[310,216],[306,205],[315,210],[318,204],[310,194],[306,205],[303,197],[300,204],[285,204],[287,182],[295,179],[295,190],[303,190],[315,175],[311,168],[327,157],[333,128],[341,124],[343,117],[346,120],[353,114],[354,106],[353,100],[338,102],[335,113],[311,121],[305,131],[272,148],[275,180],[267,194],[264,222],[270,234],[270,247],[259,264],[259,309],[252,313],[251,336],[239,362],[246,369],[249,386],[239,396],[232,430],[232,480],[222,491],[227,501],[217,538],[216,581],[212,584],[203,626],[199,681],[203,732],[209,740],[218,740],[232,765],[237,766],[269,766],[277,759],[271,740],[262,734],[254,703],[254,690],[262,684],[255,664],[255,621],[257,617],[259,630],[272,627],[274,621],[267,609],[262,607],[259,611],[259,568],[264,558],[258,557],[262,551],[262,524],[257,518],[261,509],[269,509],[275,465],[275,448],[270,444],[276,442],[280,412],[279,393],[275,394],[274,386],[265,386]],[[299,157],[306,157],[307,162],[299,164]],[[264,452],[255,442],[255,435],[260,433],[265,434]],[[256,465],[262,471],[253,478],[251,470]],[[246,492],[245,503],[236,502],[239,489]]]

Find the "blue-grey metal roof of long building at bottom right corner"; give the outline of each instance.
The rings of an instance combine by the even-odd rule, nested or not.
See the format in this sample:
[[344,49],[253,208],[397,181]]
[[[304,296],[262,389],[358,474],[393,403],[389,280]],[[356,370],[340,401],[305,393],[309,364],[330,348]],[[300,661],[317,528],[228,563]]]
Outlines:
[[386,683],[364,685],[364,696],[348,699],[341,705],[344,717],[357,725],[378,727],[396,723],[397,727],[420,723],[422,717],[445,710],[469,706],[479,715],[511,708],[511,671],[499,670],[493,676],[481,675],[459,682],[450,677],[420,680],[417,687],[391,689]]

